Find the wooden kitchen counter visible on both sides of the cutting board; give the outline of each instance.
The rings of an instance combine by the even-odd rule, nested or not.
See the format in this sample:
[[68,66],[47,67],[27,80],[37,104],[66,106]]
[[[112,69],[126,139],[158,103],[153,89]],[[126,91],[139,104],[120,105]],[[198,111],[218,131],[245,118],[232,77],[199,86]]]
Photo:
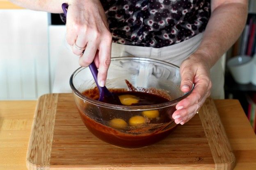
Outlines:
[[[215,100],[236,157],[235,170],[256,170],[256,135],[237,100]],[[36,101],[0,101],[0,170],[26,170]]]

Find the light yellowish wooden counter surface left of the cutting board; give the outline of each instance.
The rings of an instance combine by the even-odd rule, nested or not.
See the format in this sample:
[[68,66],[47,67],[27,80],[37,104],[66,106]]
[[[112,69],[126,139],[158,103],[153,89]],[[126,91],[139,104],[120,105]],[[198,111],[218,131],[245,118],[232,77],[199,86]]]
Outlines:
[[36,101],[0,101],[0,170],[27,169],[27,143],[35,107]]

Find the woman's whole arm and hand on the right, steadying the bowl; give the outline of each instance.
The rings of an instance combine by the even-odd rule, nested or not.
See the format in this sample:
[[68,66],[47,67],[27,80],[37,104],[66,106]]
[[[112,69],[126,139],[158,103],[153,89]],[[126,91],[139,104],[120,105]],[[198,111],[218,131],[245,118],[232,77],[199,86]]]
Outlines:
[[[211,0],[211,16],[197,51],[181,64],[181,90],[192,93],[176,105],[175,123],[189,121],[210,95],[210,67],[240,36],[247,18],[247,0]],[[226,24],[229,23],[229,24]],[[218,29],[216,29],[216,25]]]

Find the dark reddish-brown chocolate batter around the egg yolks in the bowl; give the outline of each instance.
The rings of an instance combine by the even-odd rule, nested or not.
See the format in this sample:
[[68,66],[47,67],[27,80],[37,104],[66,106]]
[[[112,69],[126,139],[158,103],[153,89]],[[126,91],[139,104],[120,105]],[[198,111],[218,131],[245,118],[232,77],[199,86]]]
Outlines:
[[[133,91],[127,91],[127,89],[110,89],[110,91],[117,95],[128,94],[139,98],[139,101],[132,105],[153,105],[170,100],[170,98],[168,99],[164,93],[161,93],[156,89],[144,90],[145,92],[136,92],[135,90],[136,89],[133,89]],[[147,92],[152,92],[153,94]],[[86,90],[83,94],[95,100],[99,97],[97,88]],[[157,94],[160,94],[161,96]],[[81,103],[81,105],[83,105],[83,103]],[[129,114],[120,114],[120,110],[112,109],[110,111],[109,108],[91,107],[90,104],[87,104],[82,110],[78,110],[82,121],[85,123],[88,130],[90,130],[99,139],[122,148],[141,148],[151,145],[165,138],[171,130],[176,127],[174,122],[168,124],[171,122],[171,114],[176,110],[175,107],[165,107],[160,109],[158,118],[147,119],[148,122],[146,122],[147,124],[144,127],[133,128],[133,126],[126,129],[112,128],[107,123],[109,123],[113,118],[121,118],[127,122],[128,126],[130,126],[129,119],[132,116],[141,115],[140,111],[133,111]],[[110,112],[111,114],[109,114]],[[106,121],[101,121],[99,119],[94,120],[94,118],[91,119],[87,116],[88,113],[95,113],[96,116],[101,117]],[[159,126],[159,124],[164,126]]]

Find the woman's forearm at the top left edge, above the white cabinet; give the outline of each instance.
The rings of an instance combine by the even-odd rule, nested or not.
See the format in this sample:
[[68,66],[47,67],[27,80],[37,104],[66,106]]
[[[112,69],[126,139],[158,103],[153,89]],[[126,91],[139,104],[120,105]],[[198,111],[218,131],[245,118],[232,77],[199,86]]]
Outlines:
[[20,7],[32,9],[36,11],[46,11],[50,13],[63,13],[62,3],[68,0],[10,0],[12,3]]

